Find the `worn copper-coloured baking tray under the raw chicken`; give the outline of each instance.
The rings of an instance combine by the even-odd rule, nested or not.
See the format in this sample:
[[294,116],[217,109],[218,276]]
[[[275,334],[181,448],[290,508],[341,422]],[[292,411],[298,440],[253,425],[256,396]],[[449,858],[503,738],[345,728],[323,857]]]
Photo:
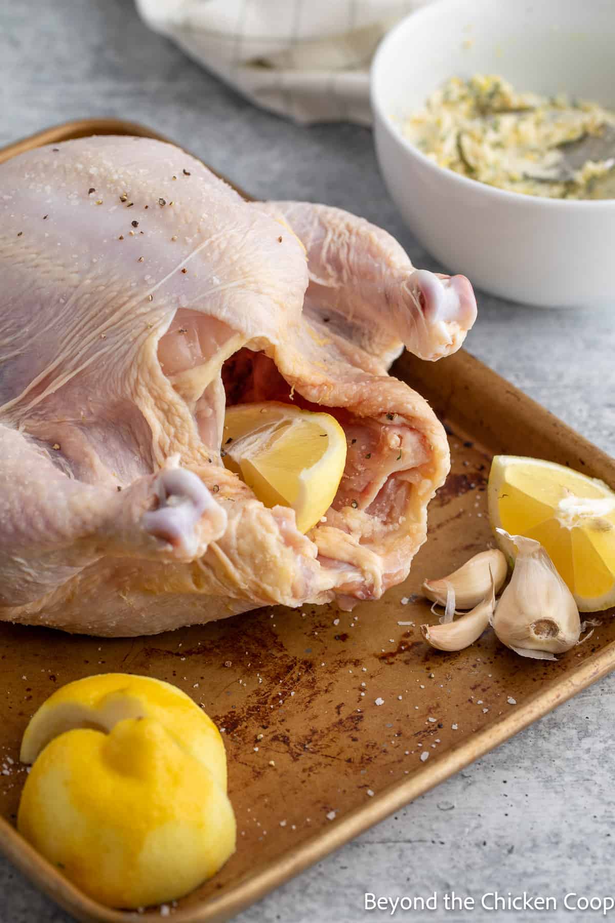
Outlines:
[[[125,122],[75,122],[11,145],[0,161],[43,143],[102,133],[157,137]],[[213,923],[615,666],[610,612],[589,641],[557,663],[522,660],[491,632],[455,654],[432,651],[421,640],[420,624],[430,616],[418,595],[421,581],[454,569],[490,541],[485,489],[494,453],[538,455],[611,485],[615,462],[463,350],[437,365],[405,354],[394,374],[444,420],[453,465],[432,501],[429,541],[408,581],[380,602],[359,605],[351,615],[332,605],[266,608],[116,641],[0,626],[0,764],[6,767],[0,846],[77,919],[125,923],[134,917],[89,900],[15,830],[25,778],[19,741],[30,714],[61,684],[111,670],[160,677],[202,703],[224,728],[238,849],[219,875],[172,910],[177,923]],[[429,759],[421,761],[421,753]]]

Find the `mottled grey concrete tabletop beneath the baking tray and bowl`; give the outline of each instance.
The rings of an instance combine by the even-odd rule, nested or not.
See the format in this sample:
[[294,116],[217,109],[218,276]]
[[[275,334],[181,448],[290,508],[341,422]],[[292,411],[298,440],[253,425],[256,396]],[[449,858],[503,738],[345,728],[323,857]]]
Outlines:
[[[0,143],[77,116],[136,119],[256,196],[310,198],[359,212],[396,234],[417,265],[437,268],[384,191],[369,131],[302,128],[254,109],[148,32],[129,0],[1,4],[0,42]],[[612,453],[613,312],[547,312],[486,295],[479,307],[470,351]],[[600,917],[567,911],[562,898],[615,893],[614,718],[615,677],[608,677],[237,919],[355,923],[387,917],[363,910],[366,891],[435,891],[442,904],[451,890],[478,905],[489,892],[555,896],[558,909],[459,914],[440,906],[398,910],[394,918]],[[0,860],[0,923],[68,919]]]

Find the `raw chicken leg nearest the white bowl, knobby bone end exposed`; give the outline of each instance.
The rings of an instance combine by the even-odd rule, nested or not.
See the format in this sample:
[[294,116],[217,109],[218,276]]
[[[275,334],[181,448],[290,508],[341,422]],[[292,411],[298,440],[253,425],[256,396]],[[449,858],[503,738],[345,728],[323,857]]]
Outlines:
[[337,332],[385,365],[402,344],[420,359],[435,360],[465,340],[477,316],[465,276],[415,270],[390,234],[348,211],[310,202],[257,202],[254,208],[288,223],[305,246],[304,310],[311,319],[328,323],[335,315]]

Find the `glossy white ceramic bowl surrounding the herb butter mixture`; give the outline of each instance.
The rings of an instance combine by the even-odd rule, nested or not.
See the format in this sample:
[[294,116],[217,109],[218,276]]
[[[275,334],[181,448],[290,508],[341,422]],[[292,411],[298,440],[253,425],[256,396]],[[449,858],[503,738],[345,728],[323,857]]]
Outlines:
[[389,32],[372,68],[384,181],[447,270],[527,304],[612,305],[615,199],[504,192],[438,166],[403,138],[392,116],[420,108],[447,78],[476,72],[615,109],[615,0],[439,0]]

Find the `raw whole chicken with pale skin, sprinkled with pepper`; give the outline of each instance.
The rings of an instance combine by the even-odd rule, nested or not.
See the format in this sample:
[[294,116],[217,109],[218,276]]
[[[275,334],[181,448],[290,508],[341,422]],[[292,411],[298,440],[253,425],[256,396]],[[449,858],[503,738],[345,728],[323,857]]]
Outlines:
[[[246,203],[160,141],[66,141],[0,177],[0,619],[151,634],[406,578],[449,456],[386,370],[459,347],[467,279],[345,211]],[[348,437],[306,535],[221,461],[225,406],[267,400]]]

